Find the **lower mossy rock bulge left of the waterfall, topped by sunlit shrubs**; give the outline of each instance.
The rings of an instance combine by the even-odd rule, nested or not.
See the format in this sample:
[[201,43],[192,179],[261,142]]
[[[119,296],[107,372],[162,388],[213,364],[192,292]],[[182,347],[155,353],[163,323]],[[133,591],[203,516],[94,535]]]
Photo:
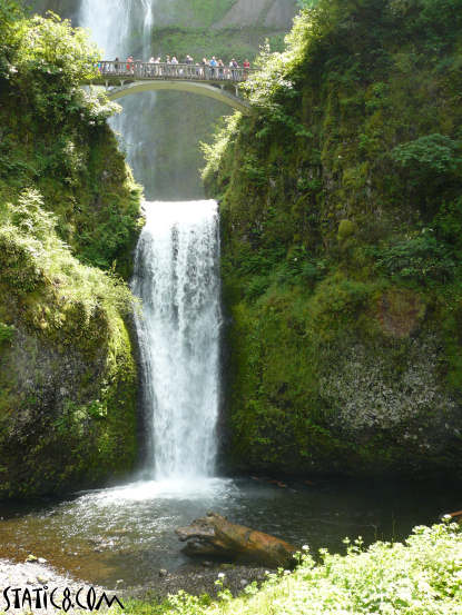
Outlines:
[[[122,320],[134,298],[118,277],[70,254],[42,205],[37,190],[24,191],[17,206],[7,204],[0,227],[0,287],[14,323],[0,327],[1,341],[10,340],[0,389],[8,387],[9,407],[17,408],[10,421],[26,411],[24,433],[18,427],[0,436],[2,497],[95,485],[135,460],[137,378]],[[22,355],[33,399],[24,400]],[[23,474],[27,480],[19,479]]]

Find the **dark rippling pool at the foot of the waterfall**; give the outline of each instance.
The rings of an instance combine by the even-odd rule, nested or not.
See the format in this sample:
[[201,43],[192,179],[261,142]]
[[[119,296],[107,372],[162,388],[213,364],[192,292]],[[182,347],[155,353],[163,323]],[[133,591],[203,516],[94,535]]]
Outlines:
[[61,502],[0,504],[0,558],[23,562],[32,553],[87,583],[145,585],[159,568],[190,562],[175,528],[208,510],[314,552],[342,552],[345,536],[366,543],[404,538],[413,526],[460,507],[458,499],[443,486],[390,483],[137,482]]

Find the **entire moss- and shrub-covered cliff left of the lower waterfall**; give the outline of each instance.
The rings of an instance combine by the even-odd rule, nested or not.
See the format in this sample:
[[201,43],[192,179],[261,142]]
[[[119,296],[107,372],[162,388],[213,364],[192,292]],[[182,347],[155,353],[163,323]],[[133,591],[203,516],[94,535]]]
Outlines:
[[132,468],[134,297],[120,275],[130,275],[141,195],[106,123],[116,106],[80,88],[98,58],[87,34],[9,2],[0,30],[3,498]]

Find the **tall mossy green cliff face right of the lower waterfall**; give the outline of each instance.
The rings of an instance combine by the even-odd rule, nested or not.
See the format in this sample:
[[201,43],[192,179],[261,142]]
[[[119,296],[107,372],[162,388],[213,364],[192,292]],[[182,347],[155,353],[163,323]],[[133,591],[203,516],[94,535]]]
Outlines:
[[210,148],[237,467],[460,468],[460,44],[443,1],[320,0]]

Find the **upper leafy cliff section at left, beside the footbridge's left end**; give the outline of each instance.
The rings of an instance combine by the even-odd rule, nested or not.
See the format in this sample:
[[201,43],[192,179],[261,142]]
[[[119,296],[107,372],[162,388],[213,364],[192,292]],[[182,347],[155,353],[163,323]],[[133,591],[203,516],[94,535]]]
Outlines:
[[128,276],[140,188],[106,123],[119,107],[79,87],[95,75],[98,52],[83,30],[53,14],[22,18],[12,30],[14,70],[0,91],[0,192],[37,186],[82,260],[116,264]]

